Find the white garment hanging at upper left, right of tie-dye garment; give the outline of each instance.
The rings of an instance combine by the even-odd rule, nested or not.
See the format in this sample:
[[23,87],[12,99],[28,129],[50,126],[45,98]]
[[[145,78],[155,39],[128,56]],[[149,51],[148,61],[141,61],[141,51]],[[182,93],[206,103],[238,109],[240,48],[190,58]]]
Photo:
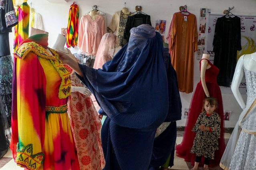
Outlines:
[[41,14],[38,14],[34,12],[33,8],[30,9],[30,14],[29,14],[29,27],[33,27],[39,30],[44,31],[44,22],[42,20]]

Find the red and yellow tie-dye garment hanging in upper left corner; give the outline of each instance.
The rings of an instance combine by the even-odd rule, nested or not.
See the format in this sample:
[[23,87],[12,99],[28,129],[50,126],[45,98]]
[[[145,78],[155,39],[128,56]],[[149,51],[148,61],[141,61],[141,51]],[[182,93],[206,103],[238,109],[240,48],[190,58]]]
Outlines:
[[27,2],[23,2],[16,10],[16,17],[19,23],[14,27],[14,51],[23,40],[28,38],[29,12],[30,7]]

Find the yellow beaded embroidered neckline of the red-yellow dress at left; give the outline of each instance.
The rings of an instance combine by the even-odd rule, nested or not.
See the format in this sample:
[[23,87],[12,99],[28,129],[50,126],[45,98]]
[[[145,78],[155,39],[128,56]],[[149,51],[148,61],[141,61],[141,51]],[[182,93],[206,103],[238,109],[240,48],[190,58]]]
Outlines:
[[49,59],[53,67],[58,71],[61,77],[61,83],[58,91],[58,98],[65,99],[71,94],[71,75],[68,69],[62,65],[60,59],[58,59],[58,53],[54,49],[48,47],[52,55],[42,45],[35,42],[28,42],[22,44],[14,53],[14,57],[24,59],[29,52],[33,52],[39,57]]

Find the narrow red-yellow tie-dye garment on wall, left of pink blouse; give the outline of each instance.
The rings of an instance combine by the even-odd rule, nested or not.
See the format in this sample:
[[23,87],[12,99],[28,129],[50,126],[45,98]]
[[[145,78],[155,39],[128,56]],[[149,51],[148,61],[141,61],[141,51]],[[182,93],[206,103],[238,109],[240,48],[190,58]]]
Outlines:
[[67,26],[67,47],[75,47],[78,41],[78,18],[79,18],[79,7],[75,2],[70,6],[69,9],[69,20]]

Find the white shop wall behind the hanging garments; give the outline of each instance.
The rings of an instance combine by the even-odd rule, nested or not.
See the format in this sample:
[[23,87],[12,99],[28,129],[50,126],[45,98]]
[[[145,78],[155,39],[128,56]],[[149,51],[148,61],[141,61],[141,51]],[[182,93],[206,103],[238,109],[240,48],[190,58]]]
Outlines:
[[[58,3],[48,2],[46,0],[28,0],[28,4],[32,2],[32,8],[35,12],[42,15],[44,22],[44,29],[49,32],[49,47],[53,45],[57,35],[60,34],[61,28],[67,27],[69,8],[73,1]],[[131,12],[135,11],[135,6],[142,6],[142,11],[151,16],[152,25],[155,20],[166,20],[166,30],[169,28],[171,16],[174,12],[179,11],[179,6],[187,5],[187,10],[196,15],[199,23],[200,8],[210,8],[214,14],[222,14],[228,7],[234,6],[233,14],[247,14],[255,15],[256,0],[77,0],[79,6],[79,20],[81,16],[89,12],[93,5],[98,5],[99,10],[105,12],[107,15],[107,25],[110,23],[114,12],[121,10],[126,2],[126,7]],[[199,24],[198,24],[199,25]],[[167,33],[166,33],[167,34]],[[13,34],[10,34],[10,46],[12,48]],[[71,47],[73,53],[77,52],[77,47]],[[196,84],[200,81],[199,61],[196,60],[194,64],[194,89]],[[180,93],[183,109],[189,108],[190,100],[193,93]],[[225,110],[231,110],[232,115],[230,121],[225,121],[226,127],[234,127],[238,120],[242,109],[239,107],[234,95],[222,94],[223,104]],[[243,96],[246,99],[246,95]],[[177,121],[177,126],[184,126],[186,119]]]

